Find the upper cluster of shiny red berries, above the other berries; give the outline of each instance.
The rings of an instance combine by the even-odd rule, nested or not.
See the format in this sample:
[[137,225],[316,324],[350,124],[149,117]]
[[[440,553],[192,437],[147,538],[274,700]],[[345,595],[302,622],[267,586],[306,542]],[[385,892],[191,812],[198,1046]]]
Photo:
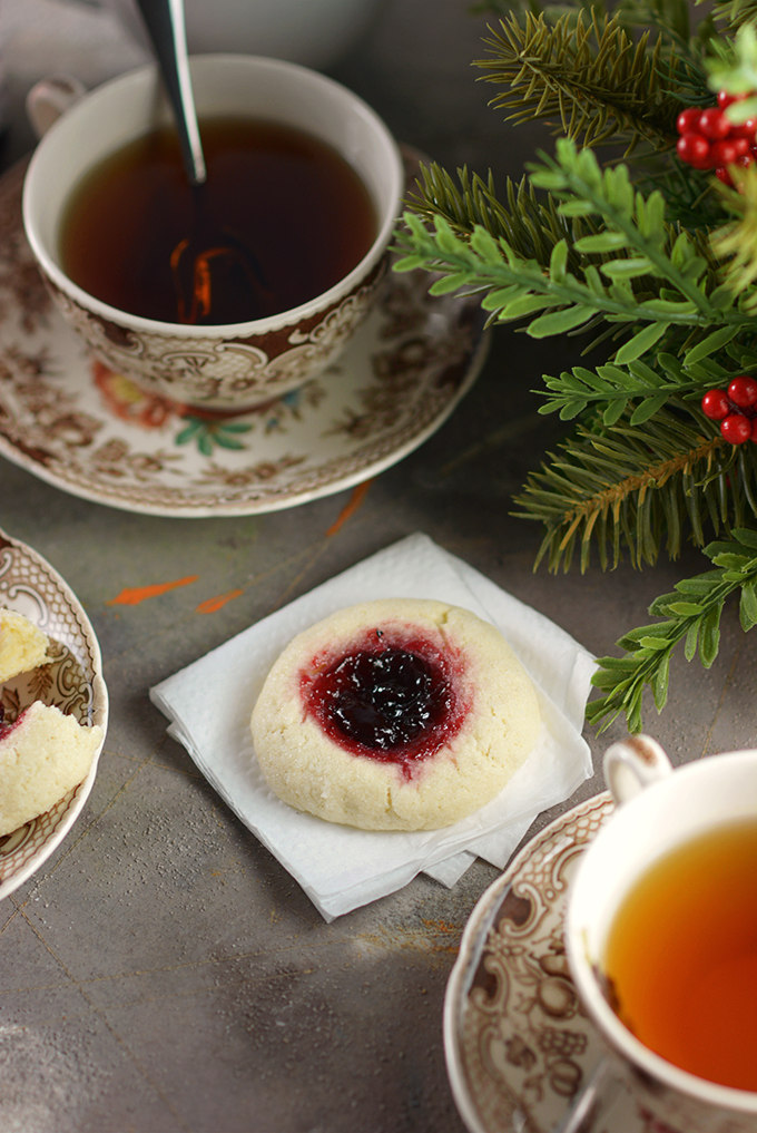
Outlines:
[[721,91],[717,105],[697,110],[683,110],[676,122],[680,137],[678,156],[694,169],[714,169],[715,176],[725,185],[733,185],[729,165],[745,169],[757,159],[757,118],[748,118],[740,126],[733,126],[723,111],[732,102],[740,102],[746,94],[733,95]]

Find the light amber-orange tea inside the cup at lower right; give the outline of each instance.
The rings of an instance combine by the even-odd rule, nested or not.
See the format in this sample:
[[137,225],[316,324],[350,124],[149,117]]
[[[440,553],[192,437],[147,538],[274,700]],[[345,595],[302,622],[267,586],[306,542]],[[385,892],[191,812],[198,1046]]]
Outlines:
[[757,818],[646,871],[613,919],[604,974],[618,1015],[651,1050],[757,1090]]

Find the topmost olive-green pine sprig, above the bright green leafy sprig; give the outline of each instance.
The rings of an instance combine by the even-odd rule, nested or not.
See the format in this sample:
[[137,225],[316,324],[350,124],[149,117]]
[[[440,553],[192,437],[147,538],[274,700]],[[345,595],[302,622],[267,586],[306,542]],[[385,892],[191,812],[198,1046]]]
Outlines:
[[558,118],[561,131],[584,146],[623,143],[628,154],[644,140],[670,150],[685,105],[676,88],[707,92],[704,76],[680,52],[663,59],[662,36],[650,45],[645,33],[634,43],[618,17],[601,18],[593,9],[553,26],[526,12],[523,26],[510,16],[500,27],[484,40],[493,58],[476,62],[487,82],[506,88],[492,105],[513,110],[514,122]]

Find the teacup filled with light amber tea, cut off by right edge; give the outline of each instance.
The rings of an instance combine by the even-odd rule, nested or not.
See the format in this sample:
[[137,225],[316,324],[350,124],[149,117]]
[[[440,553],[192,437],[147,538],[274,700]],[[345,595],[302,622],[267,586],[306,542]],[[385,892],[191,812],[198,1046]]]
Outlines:
[[566,920],[579,998],[666,1133],[755,1133],[757,751],[673,772],[635,736],[604,767],[618,809]]

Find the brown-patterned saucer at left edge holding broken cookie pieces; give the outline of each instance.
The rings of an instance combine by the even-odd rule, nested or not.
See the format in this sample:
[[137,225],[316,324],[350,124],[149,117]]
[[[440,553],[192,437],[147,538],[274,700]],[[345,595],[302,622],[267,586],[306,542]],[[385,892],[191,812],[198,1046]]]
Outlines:
[[[0,530],[0,606],[17,610],[50,638],[50,663],[0,684],[7,721],[33,700],[57,705],[80,723],[107,727],[107,690],[100,646],[78,598],[50,563]],[[50,857],[92,791],[97,752],[84,783],[52,810],[0,837],[0,898],[25,881]]]

